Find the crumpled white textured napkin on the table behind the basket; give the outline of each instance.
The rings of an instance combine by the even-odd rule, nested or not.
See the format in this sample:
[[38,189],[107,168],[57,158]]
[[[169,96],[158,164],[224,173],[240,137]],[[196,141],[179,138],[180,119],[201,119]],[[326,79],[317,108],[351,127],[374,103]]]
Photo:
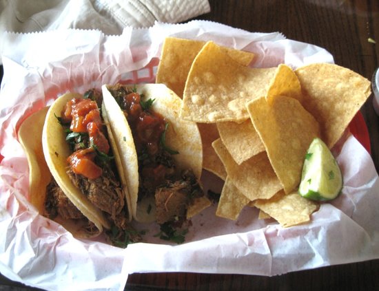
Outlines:
[[[207,0],[0,0],[0,35],[79,28],[121,34],[155,21],[178,23],[210,11]],[[0,38],[0,52],[3,51]],[[0,56],[0,64],[1,56]]]

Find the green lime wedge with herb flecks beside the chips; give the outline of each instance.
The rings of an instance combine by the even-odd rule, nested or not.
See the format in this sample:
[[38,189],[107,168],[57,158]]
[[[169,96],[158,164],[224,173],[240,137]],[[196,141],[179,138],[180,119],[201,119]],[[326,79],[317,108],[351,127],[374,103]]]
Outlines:
[[332,200],[340,194],[342,182],[333,154],[320,138],[315,138],[305,156],[298,192],[310,200]]

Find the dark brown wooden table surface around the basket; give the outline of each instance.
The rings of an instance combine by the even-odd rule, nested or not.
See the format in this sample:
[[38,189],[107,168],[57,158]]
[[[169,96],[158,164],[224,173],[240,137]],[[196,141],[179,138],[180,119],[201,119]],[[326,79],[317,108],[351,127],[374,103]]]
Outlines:
[[[379,66],[378,0],[209,0],[209,3],[212,11],[197,19],[216,21],[251,32],[283,32],[288,39],[324,47],[333,54],[336,64],[370,80]],[[372,96],[361,111],[369,129],[371,155],[378,170],[379,118],[373,111]],[[22,285],[5,278],[0,278],[0,281],[12,285],[12,290],[24,290]],[[125,290],[379,290],[379,260],[275,277],[131,274]]]

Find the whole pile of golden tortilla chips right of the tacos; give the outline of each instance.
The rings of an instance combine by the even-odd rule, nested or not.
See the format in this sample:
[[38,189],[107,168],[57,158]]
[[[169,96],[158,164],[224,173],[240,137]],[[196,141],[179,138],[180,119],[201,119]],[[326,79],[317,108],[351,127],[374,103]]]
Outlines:
[[225,181],[216,215],[245,206],[282,226],[309,221],[318,204],[297,193],[305,154],[320,137],[332,148],[371,94],[350,69],[315,63],[252,68],[254,54],[209,41],[168,38],[156,76],[198,122],[203,169]]

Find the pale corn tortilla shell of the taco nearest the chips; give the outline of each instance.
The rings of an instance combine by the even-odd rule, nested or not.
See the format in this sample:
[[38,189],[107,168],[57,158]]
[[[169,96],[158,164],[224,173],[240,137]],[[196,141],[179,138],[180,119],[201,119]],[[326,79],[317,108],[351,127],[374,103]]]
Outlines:
[[[170,149],[179,152],[173,155],[178,170],[192,169],[194,175],[200,180],[203,166],[203,147],[201,135],[195,122],[182,120],[179,118],[179,111],[182,100],[174,91],[168,89],[163,84],[136,85],[136,91],[141,94],[141,100],[154,99],[152,111],[161,114],[169,123],[165,133],[165,143]],[[109,116],[114,118],[111,122],[115,140],[123,160],[123,166],[128,178],[128,190],[132,213],[138,222],[153,222],[155,220],[154,197],[146,197],[137,203],[139,190],[139,168],[138,157],[134,147],[132,131],[123,115],[119,105],[114,100],[106,85],[103,85],[103,98]],[[127,130],[125,130],[127,127]],[[119,130],[120,132],[117,132]],[[203,203],[203,201],[201,201]],[[153,207],[152,207],[153,206]],[[152,207],[150,211],[147,208]],[[195,211],[196,206],[192,209]]]

